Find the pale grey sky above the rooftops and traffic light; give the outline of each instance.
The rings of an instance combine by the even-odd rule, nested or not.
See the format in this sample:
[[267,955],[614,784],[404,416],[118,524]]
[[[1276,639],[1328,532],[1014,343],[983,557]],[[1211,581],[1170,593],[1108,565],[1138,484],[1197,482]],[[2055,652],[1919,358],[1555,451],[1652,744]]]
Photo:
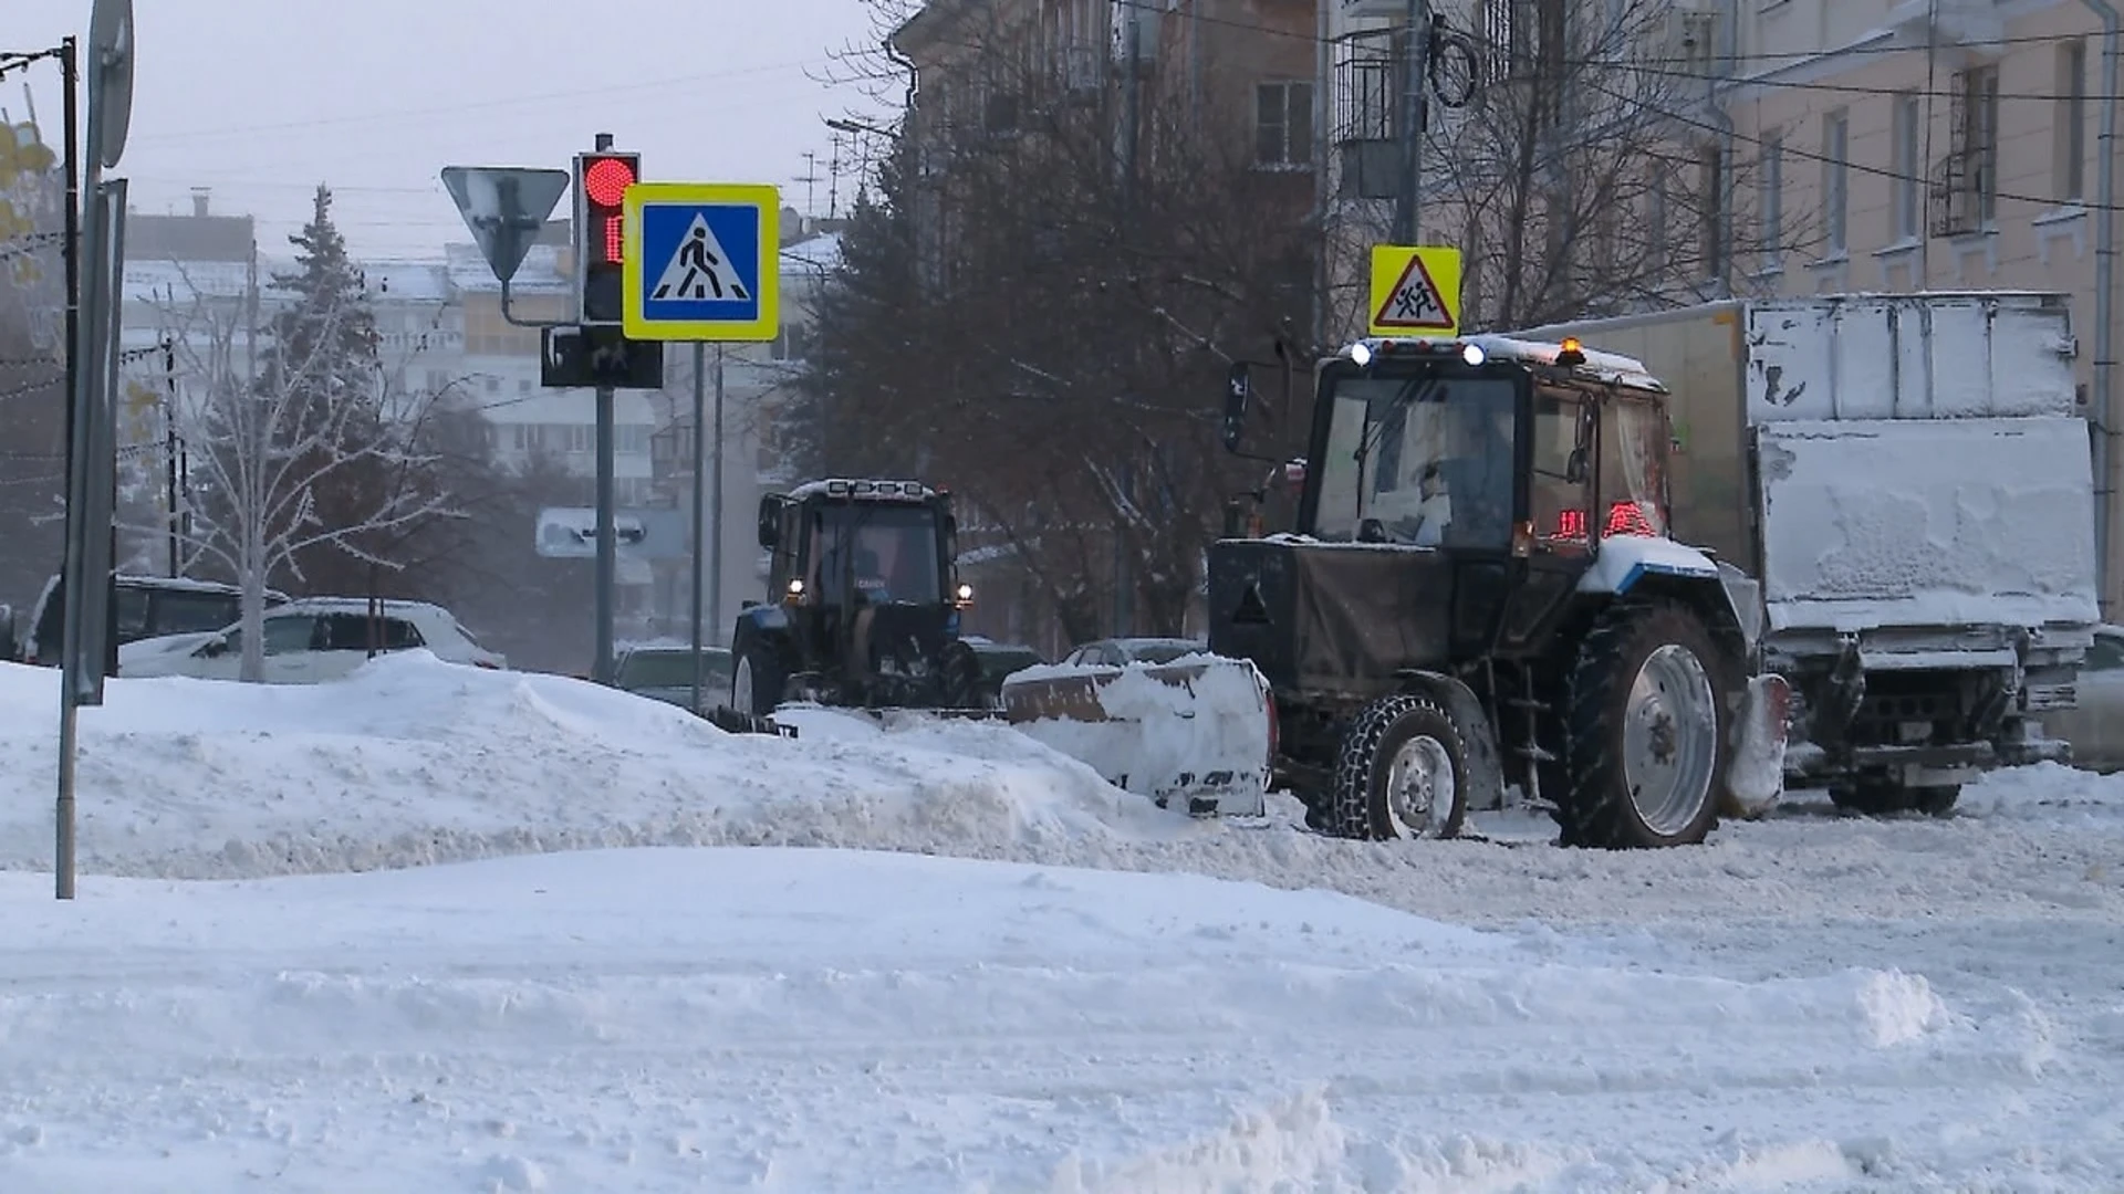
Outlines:
[[[4,8],[0,47],[38,49],[85,34],[91,0]],[[871,36],[860,0],[134,0],[134,15],[138,91],[113,174],[138,210],[187,210],[191,187],[212,187],[217,210],[263,221],[270,253],[323,181],[359,253],[435,255],[465,240],[438,170],[565,168],[597,132],[641,151],[648,178],[775,183],[796,208],[811,151],[826,215],[820,115],[875,110],[816,81]],[[55,142],[55,68],[34,93]],[[0,108],[25,117],[21,74]]]

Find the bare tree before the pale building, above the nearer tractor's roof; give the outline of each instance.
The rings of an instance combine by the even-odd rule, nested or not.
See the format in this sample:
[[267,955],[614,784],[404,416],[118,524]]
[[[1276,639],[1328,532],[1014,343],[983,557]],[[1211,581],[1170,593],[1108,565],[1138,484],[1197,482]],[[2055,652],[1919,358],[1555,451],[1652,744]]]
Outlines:
[[[1746,295],[1803,246],[1795,212],[1765,219],[1778,166],[1716,132],[1708,23],[1667,0],[1478,0],[1474,15],[1434,57],[1423,138],[1423,240],[1463,253],[1463,327]],[[1347,38],[1336,76],[1336,140],[1395,136],[1398,47]],[[1361,329],[1364,253],[1387,240],[1389,210],[1357,200],[1340,215],[1336,310]]]

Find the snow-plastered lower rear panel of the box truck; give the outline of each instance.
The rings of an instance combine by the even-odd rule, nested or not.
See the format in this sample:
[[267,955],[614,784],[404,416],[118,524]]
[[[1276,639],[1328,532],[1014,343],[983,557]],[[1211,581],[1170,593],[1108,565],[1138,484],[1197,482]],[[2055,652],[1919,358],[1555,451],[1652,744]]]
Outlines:
[[1771,625],[2096,622],[2086,423],[1780,423],[1763,433]]

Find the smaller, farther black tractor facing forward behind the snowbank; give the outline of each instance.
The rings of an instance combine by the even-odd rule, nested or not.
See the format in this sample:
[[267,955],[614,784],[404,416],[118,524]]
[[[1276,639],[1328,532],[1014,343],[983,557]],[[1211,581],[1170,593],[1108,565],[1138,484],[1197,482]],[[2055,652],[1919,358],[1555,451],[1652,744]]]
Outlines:
[[767,601],[731,637],[731,707],[784,701],[850,710],[992,714],[994,686],[960,639],[973,586],[958,580],[949,493],[918,480],[813,480],[760,499]]

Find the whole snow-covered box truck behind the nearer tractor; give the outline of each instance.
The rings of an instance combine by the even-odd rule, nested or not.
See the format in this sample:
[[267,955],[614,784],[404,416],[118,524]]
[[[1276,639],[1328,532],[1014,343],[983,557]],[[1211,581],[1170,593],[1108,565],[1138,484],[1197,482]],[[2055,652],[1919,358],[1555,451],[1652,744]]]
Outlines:
[[1786,773],[1856,812],[1952,809],[2065,761],[2099,622],[2090,427],[2065,295],[1729,300],[1514,336],[1638,357],[1674,391],[1674,535],[1761,578]]

